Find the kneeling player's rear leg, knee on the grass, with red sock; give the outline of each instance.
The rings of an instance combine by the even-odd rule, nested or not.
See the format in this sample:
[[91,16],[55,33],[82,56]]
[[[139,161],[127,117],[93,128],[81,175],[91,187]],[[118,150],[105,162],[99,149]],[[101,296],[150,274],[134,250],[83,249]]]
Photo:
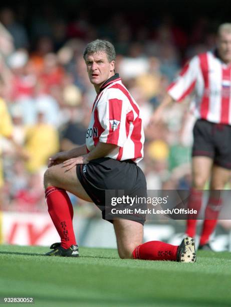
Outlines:
[[178,246],[160,241],[142,244],[143,225],[135,221],[113,221],[120,258],[176,260]]

